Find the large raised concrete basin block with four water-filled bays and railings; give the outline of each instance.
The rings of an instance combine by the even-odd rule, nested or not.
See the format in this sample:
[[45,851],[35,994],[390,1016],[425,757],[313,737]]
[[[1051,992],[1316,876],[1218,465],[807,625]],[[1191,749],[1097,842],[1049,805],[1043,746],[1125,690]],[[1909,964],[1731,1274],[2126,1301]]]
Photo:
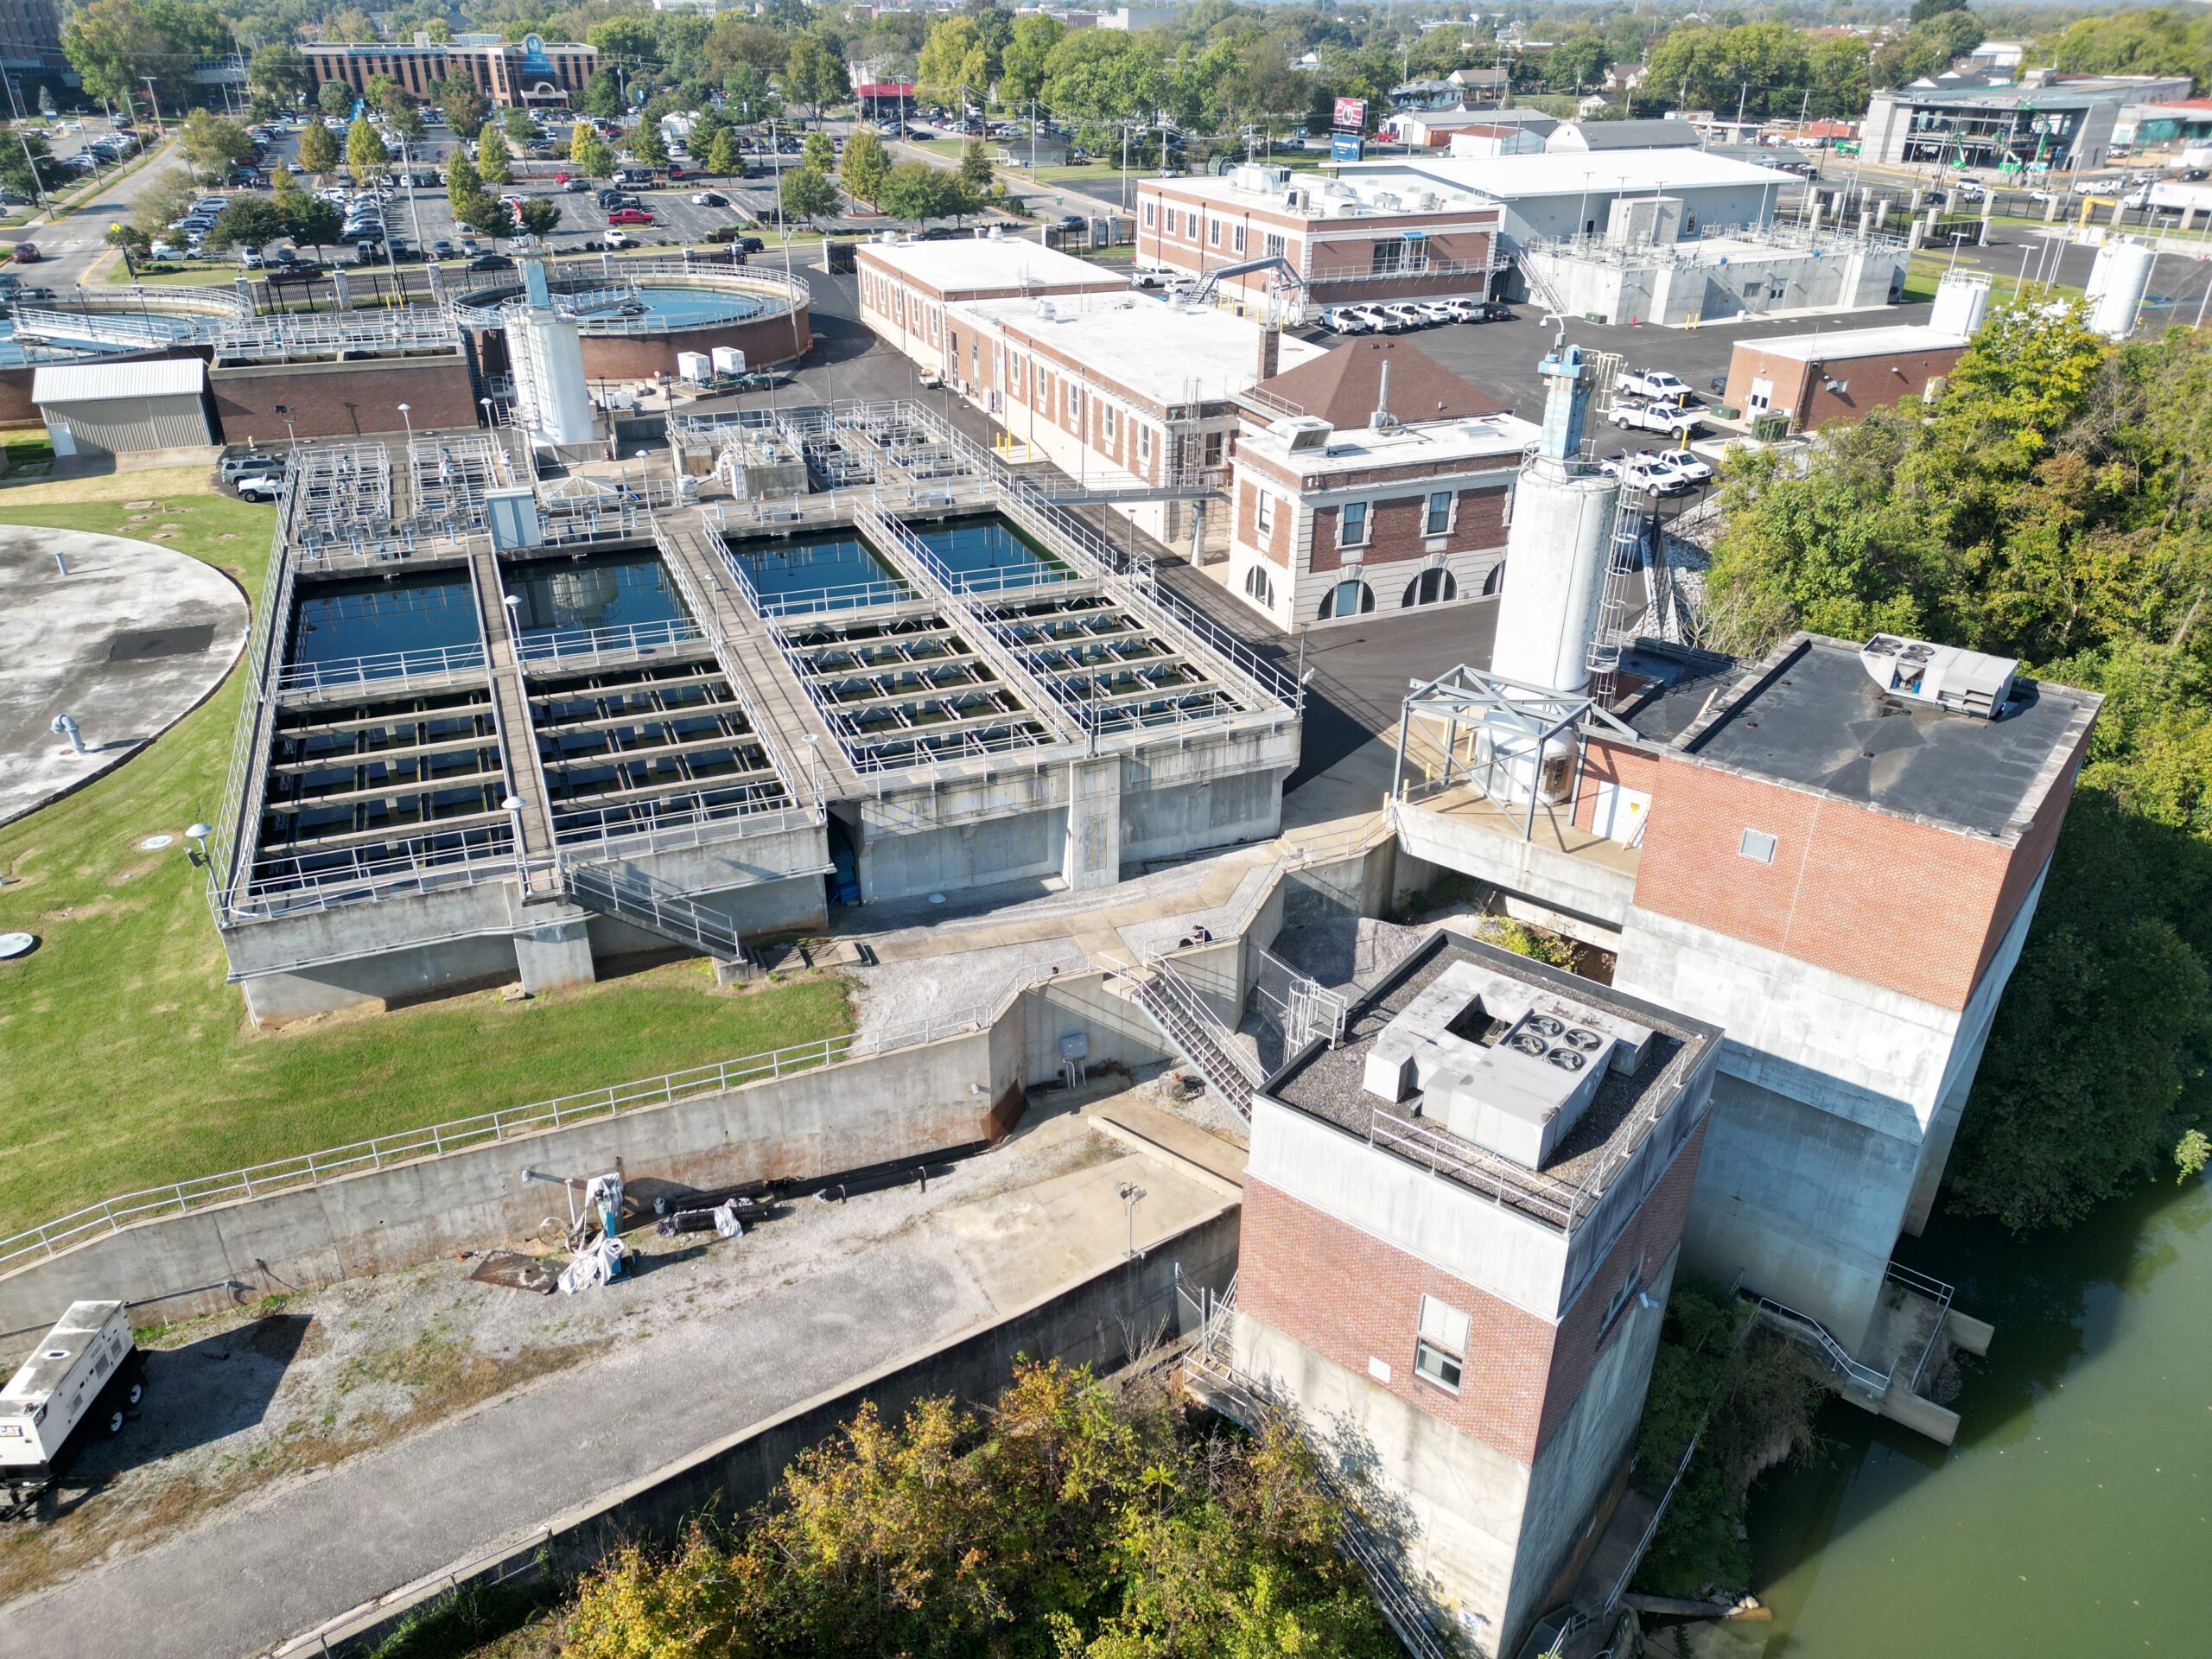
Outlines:
[[927,409],[513,438],[296,451],[210,854],[257,1022],[1276,832],[1298,688]]

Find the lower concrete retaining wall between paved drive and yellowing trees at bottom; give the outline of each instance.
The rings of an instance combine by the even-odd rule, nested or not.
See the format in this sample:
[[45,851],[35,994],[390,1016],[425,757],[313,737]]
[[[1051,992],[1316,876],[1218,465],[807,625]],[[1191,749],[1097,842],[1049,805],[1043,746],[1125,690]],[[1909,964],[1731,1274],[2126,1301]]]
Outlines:
[[[929,1396],[987,1400],[1013,1376],[1018,1358],[1060,1358],[1108,1371],[1128,1358],[1130,1340],[1148,1340],[1161,1329],[1172,1334],[1179,1287],[1194,1294],[1199,1285],[1228,1285],[1237,1272],[1237,1223],[1239,1212],[1230,1208],[1155,1245],[1139,1261],[1117,1263],[995,1325],[894,1360],[843,1389],[743,1427],[628,1486],[551,1517],[544,1533],[502,1555],[434,1573],[372,1608],[294,1637],[276,1650],[276,1659],[363,1652],[407,1613],[456,1586],[540,1571],[566,1577],[597,1566],[622,1544],[672,1540],[695,1515],[739,1515],[774,1491],[792,1458],[834,1436],[863,1402],[872,1400],[887,1418],[898,1418]],[[542,1568],[535,1566],[540,1551]]]

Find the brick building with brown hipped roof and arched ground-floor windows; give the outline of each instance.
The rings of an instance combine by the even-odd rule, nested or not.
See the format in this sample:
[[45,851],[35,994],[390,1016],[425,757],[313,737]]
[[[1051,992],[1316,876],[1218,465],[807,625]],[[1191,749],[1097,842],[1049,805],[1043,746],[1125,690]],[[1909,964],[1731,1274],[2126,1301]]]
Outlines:
[[1340,345],[1241,403],[1230,591],[1274,626],[1493,591],[1531,422],[1398,338]]

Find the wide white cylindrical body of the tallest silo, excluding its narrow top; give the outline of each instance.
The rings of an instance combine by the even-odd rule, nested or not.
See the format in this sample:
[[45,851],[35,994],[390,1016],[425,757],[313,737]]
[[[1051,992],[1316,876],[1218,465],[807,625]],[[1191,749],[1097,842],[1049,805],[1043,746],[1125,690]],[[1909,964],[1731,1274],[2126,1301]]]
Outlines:
[[1513,493],[1506,584],[1491,672],[1522,686],[1579,692],[1606,599],[1619,480],[1531,462]]

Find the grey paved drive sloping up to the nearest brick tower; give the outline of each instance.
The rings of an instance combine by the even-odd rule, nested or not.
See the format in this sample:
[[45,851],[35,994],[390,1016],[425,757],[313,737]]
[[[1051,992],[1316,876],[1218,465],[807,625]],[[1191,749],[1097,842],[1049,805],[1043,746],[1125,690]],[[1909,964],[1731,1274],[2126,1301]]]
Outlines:
[[[1212,1157],[1237,1161],[1234,1148]],[[708,1296],[712,1267],[737,1261],[754,1276],[730,1305],[708,1303],[672,1329],[0,1608],[0,1659],[206,1659],[274,1646],[1110,1267],[1126,1248],[1121,1181],[1146,1190],[1139,1250],[1219,1214],[1234,1199],[1190,1164],[1188,1148],[1124,1155],[1086,1117],[1060,1115],[933,1179],[925,1199],[902,1188],[845,1206],[810,1201],[759,1234],[710,1245],[706,1261],[648,1261],[641,1276],[588,1294],[666,1310]],[[159,1376],[157,1365],[155,1387]]]

